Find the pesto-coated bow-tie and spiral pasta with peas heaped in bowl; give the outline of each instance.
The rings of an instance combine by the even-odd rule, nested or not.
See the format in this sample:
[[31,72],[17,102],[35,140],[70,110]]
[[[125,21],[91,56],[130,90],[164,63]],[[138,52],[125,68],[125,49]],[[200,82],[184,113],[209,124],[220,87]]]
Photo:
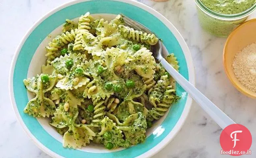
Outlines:
[[[23,81],[35,94],[24,112],[50,117],[66,148],[144,142],[147,129],[179,98],[149,50],[156,35],[124,26],[121,15],[108,22],[89,12],[78,23],[67,19],[62,31],[46,47],[42,74]],[[166,60],[178,70],[174,54]]]

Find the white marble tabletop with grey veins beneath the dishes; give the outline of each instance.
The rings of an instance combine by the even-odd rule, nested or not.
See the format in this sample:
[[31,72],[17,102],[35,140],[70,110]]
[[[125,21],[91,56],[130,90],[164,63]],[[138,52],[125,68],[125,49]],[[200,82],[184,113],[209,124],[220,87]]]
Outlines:
[[[0,0],[0,158],[50,158],[33,144],[12,111],[8,95],[8,72],[17,45],[41,16],[69,0]],[[227,79],[222,65],[225,38],[202,31],[193,0],[152,2],[139,0],[159,11],[186,40],[196,70],[196,86],[227,115],[252,133],[252,155],[256,158],[255,100],[239,93]],[[252,17],[256,17],[254,13]],[[220,158],[220,127],[196,104],[182,130],[153,158]]]

